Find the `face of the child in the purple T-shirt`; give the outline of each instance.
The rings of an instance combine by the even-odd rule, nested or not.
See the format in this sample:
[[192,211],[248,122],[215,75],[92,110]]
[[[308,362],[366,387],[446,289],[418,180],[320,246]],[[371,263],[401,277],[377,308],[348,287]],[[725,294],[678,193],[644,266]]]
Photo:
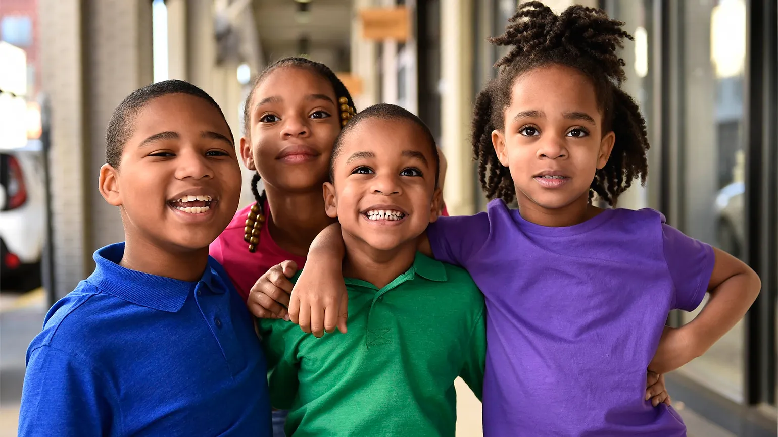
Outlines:
[[492,131],[510,169],[519,208],[587,202],[594,173],[608,163],[615,135],[604,131],[594,86],[574,68],[548,65],[514,82],[503,131]]

